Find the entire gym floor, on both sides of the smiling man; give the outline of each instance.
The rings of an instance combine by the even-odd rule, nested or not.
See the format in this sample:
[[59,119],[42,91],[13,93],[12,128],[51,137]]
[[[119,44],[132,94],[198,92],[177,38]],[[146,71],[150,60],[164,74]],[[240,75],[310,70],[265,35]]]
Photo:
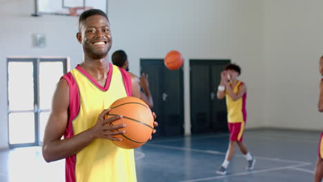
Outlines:
[[[248,130],[244,143],[257,160],[253,171],[236,148],[228,174],[215,174],[224,160],[228,134],[157,138],[135,150],[138,182],[313,181],[319,132]],[[64,181],[65,161],[46,163],[41,148],[0,151],[0,181]]]

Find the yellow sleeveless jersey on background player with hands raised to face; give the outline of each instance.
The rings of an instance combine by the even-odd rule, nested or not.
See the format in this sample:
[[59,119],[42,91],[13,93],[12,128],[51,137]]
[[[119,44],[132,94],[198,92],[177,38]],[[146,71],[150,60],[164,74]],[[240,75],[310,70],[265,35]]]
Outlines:
[[[242,81],[238,81],[237,85],[235,85],[235,88],[233,88],[235,94],[239,90],[239,85],[242,84],[244,84]],[[229,123],[246,122],[246,93],[237,101],[233,101],[228,92],[226,92],[226,108],[228,110]]]

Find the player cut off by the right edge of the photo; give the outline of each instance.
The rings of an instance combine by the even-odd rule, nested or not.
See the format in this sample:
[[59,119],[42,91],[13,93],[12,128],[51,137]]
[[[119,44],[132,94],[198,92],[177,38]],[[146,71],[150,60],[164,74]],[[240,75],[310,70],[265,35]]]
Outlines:
[[[320,74],[323,76],[323,56],[320,59]],[[320,97],[318,101],[318,110],[323,112],[323,78],[320,82]],[[321,182],[323,178],[323,132],[319,141],[318,159],[315,166],[315,182]]]

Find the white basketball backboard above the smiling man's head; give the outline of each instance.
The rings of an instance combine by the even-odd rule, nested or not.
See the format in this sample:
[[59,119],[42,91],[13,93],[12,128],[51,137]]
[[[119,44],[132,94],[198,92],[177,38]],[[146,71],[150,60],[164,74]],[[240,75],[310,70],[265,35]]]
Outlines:
[[96,8],[106,12],[108,0],[38,0],[39,14],[77,16],[84,10]]

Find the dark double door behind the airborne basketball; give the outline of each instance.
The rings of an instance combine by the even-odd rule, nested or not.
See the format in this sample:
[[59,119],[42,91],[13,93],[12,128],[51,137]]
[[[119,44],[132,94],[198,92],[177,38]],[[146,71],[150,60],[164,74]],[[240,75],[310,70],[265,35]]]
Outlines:
[[183,71],[168,70],[164,59],[141,59],[141,73],[148,74],[149,88],[153,96],[153,111],[159,126],[154,136],[184,134]]

